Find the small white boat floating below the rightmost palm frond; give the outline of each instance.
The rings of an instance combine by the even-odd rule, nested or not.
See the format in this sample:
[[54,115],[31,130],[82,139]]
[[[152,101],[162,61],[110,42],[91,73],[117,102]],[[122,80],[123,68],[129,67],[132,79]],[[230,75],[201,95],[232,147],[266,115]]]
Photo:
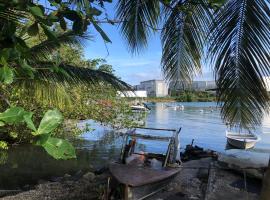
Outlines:
[[233,131],[226,131],[226,137],[230,145],[239,149],[250,149],[260,140],[260,138],[253,133],[241,134],[240,132]]

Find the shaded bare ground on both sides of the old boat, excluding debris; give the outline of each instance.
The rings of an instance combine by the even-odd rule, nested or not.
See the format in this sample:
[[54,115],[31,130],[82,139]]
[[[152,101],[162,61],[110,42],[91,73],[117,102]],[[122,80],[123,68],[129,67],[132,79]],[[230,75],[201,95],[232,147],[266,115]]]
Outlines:
[[[212,163],[212,169],[208,170]],[[214,162],[215,163],[215,162]],[[201,167],[203,169],[198,169]],[[180,174],[163,191],[149,200],[257,200],[261,182],[233,171],[216,169],[211,158],[188,161]],[[92,200],[104,199],[108,173],[65,177],[40,183],[35,189],[6,196],[1,200]],[[247,190],[245,190],[245,188]],[[10,194],[11,195],[11,194]]]

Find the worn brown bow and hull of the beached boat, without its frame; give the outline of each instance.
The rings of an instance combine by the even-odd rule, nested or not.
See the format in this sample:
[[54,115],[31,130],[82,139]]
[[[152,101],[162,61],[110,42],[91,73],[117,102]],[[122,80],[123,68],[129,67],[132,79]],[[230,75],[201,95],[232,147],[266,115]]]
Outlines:
[[[113,163],[109,166],[114,183],[122,188],[124,200],[142,200],[162,190],[181,167],[156,170]],[[116,184],[113,184],[114,186]]]

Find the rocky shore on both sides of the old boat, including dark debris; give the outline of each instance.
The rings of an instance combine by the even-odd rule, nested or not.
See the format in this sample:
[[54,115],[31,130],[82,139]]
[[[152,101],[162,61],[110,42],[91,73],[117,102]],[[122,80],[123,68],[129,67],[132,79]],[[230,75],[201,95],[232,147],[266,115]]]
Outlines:
[[[184,161],[181,172],[166,188],[151,196],[149,200],[258,200],[262,179],[258,178],[260,176],[257,176],[257,173],[254,176],[254,171],[239,170],[243,165],[240,162],[243,156],[237,159],[237,162],[240,162],[238,165],[235,160],[230,159],[235,155],[241,154],[233,151],[218,155],[214,151],[187,145],[181,155]],[[222,158],[221,161],[218,157]],[[249,159],[251,155],[244,157],[244,166],[248,166]],[[256,161],[256,164],[264,166],[265,163],[260,163],[260,160],[262,159]],[[227,165],[224,165],[225,161]],[[105,200],[109,176],[106,168],[95,173],[77,172],[73,176],[65,174],[50,181],[39,181],[35,187],[25,191],[0,190],[0,197],[1,200]]]

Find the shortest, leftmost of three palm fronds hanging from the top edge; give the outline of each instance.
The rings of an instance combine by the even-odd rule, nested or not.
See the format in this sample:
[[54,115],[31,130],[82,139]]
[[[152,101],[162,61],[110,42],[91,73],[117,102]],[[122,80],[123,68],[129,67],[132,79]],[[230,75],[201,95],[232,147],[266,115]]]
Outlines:
[[138,53],[145,48],[148,38],[157,27],[160,13],[158,0],[119,0],[117,3],[117,18],[120,24],[121,34],[127,41],[132,53]]

